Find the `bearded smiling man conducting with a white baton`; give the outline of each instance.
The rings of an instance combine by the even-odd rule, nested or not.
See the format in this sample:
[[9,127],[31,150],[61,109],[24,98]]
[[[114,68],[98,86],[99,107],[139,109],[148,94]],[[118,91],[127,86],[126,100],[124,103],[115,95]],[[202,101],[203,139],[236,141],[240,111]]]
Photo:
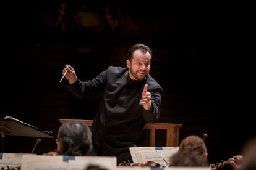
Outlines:
[[132,161],[129,147],[136,147],[146,122],[160,118],[163,89],[149,75],[152,51],[135,44],[128,52],[127,68],[108,67],[96,78],[80,81],[70,65],[62,70],[77,97],[100,93],[93,119],[92,139],[96,155],[116,156],[117,163]]

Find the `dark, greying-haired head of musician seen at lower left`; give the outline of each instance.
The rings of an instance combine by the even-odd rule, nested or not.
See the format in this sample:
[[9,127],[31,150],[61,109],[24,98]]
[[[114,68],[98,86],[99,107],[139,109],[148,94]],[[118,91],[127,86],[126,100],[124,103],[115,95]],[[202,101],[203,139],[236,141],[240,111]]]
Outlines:
[[70,120],[59,127],[56,142],[60,155],[84,156],[92,149],[92,132],[85,123]]

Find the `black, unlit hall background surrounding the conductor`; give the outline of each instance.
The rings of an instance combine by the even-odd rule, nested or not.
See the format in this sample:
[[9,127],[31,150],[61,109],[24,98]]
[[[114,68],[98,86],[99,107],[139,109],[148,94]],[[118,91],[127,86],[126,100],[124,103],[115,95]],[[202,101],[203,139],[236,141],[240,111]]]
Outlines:
[[[127,51],[141,42],[153,51],[150,75],[164,89],[159,122],[181,123],[179,141],[207,133],[210,163],[227,160],[255,136],[248,16],[217,4],[161,1],[13,4],[2,31],[7,53],[1,118],[9,115],[54,135],[59,119],[93,119],[98,97],[77,99],[61,86],[65,64],[80,79],[91,79],[109,65],[126,67]],[[164,132],[158,135],[156,145],[164,145]],[[30,153],[36,139],[6,136],[4,152]],[[35,153],[55,147],[54,139],[42,139]]]

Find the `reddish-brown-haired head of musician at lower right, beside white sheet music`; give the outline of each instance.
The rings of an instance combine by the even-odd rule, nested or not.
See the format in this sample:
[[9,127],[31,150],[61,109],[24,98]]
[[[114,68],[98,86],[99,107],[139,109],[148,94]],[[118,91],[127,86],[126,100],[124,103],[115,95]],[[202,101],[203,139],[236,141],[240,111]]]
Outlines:
[[181,141],[181,144],[179,145],[179,152],[184,150],[190,153],[198,152],[198,154],[206,158],[208,155],[205,142],[203,142],[203,139],[197,135],[188,136]]

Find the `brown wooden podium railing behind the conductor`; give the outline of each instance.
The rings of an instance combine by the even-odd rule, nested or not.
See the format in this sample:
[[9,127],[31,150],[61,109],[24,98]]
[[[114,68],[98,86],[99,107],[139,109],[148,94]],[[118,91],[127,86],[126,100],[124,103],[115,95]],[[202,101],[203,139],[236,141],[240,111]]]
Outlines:
[[[59,119],[61,123],[66,123],[70,119]],[[92,126],[92,120],[78,119],[87,124],[87,126]],[[155,132],[156,129],[166,130],[166,147],[176,147],[179,145],[179,127],[182,124],[173,123],[147,123],[146,129],[150,129],[150,147],[155,147]]]

